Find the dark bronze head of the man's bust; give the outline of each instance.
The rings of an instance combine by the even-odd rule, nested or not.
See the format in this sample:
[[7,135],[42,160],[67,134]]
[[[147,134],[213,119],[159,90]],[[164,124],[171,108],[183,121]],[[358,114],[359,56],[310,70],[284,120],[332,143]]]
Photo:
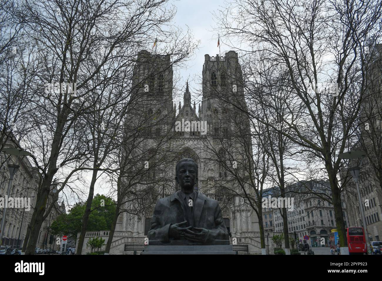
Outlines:
[[181,190],[193,190],[197,182],[197,164],[193,159],[183,158],[176,163],[175,180],[180,185]]

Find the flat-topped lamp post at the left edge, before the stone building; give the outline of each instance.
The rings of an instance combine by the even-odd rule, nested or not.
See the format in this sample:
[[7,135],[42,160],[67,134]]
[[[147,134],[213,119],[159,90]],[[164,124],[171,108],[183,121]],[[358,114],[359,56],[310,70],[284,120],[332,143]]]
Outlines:
[[[6,195],[6,200],[4,204],[4,210],[3,210],[3,218],[1,221],[1,226],[0,226],[0,245],[3,244],[3,233],[4,233],[4,228],[5,228],[5,217],[6,217],[6,209],[8,207],[8,198],[11,192],[11,186],[12,186],[12,180],[17,171],[20,168],[20,163],[23,161],[25,156],[31,156],[32,154],[29,153],[28,151],[25,151],[23,149],[17,149],[17,148],[5,148],[2,150],[6,159],[6,163],[8,164],[8,170],[9,170],[9,181],[8,181],[8,190],[7,190],[7,195]],[[10,164],[8,161],[8,155],[14,155],[17,156],[17,161],[16,164]],[[20,156],[22,156],[21,160],[19,159]]]

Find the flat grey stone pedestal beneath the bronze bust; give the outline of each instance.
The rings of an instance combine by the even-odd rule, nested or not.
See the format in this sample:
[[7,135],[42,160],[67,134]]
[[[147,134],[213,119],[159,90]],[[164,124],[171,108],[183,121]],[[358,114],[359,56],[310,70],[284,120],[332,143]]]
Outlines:
[[141,255],[237,255],[232,245],[146,245]]

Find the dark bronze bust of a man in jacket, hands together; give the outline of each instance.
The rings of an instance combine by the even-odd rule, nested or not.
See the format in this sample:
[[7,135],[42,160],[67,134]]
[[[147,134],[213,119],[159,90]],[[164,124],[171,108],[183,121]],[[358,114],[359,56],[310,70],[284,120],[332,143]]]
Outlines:
[[229,241],[218,201],[194,191],[198,173],[196,162],[183,158],[175,170],[180,190],[157,201],[147,234],[149,243],[157,241],[171,245],[178,240],[178,245],[208,245],[215,244],[215,240]]

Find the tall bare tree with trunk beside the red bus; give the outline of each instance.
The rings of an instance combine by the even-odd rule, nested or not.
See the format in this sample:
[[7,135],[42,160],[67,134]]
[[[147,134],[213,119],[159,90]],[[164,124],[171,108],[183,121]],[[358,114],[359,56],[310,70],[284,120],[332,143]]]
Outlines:
[[[227,13],[220,16],[224,35],[249,46],[247,51],[257,55],[257,62],[267,62],[262,63],[268,67],[264,71],[278,68],[275,80],[289,87],[283,98],[288,114],[278,115],[278,123],[289,129],[280,133],[324,166],[340,243],[346,247],[337,156],[354,136],[371,62],[364,42],[366,37],[375,42],[380,36],[381,6],[357,1],[238,0],[228,9],[235,21],[232,24]],[[256,74],[261,76],[262,71]],[[253,102],[261,102],[259,96]],[[263,104],[275,110],[274,104]],[[301,118],[293,118],[296,114]],[[272,128],[277,129],[275,124]]]

